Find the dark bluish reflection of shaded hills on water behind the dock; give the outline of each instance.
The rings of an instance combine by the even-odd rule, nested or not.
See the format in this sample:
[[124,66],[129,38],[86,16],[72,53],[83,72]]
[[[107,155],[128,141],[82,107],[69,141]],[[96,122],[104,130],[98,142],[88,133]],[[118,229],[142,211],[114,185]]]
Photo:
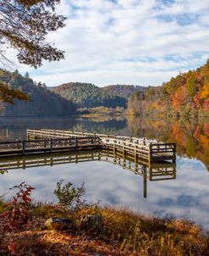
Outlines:
[[15,140],[26,139],[27,129],[55,129],[55,130],[71,130],[71,131],[86,131],[106,133],[106,134],[120,134],[127,135],[129,133],[127,121],[124,118],[96,121],[80,119],[76,117],[71,118],[0,118],[0,139],[1,140]]

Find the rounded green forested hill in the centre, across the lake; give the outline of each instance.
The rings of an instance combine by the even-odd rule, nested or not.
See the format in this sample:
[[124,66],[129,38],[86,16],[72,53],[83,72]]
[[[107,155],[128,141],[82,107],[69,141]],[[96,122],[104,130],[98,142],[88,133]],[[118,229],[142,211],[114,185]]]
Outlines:
[[52,92],[73,101],[78,108],[125,107],[127,102],[124,97],[115,96],[89,83],[69,82],[53,87]]

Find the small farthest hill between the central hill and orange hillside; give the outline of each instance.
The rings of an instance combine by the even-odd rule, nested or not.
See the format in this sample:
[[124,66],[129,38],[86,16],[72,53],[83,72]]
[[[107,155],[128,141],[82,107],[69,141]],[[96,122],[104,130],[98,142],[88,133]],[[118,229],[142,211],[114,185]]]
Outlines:
[[111,93],[113,95],[117,95],[120,97],[124,97],[126,99],[129,98],[131,94],[136,91],[144,91],[146,87],[143,86],[129,86],[129,85],[113,85],[113,86],[104,86],[102,90],[105,92]]

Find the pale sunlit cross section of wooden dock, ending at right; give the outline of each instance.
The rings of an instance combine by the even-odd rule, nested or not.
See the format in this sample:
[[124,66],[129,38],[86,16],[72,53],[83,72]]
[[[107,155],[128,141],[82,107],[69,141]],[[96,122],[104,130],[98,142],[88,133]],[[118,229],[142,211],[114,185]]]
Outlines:
[[[137,161],[137,159],[142,159],[149,163],[159,161],[172,161],[175,163],[176,160],[175,143],[162,143],[132,136],[113,136],[78,131],[29,129],[27,130],[27,138],[29,142],[31,140],[36,141],[36,139],[62,140],[69,138],[88,138],[89,141],[85,141],[85,147],[91,147],[93,145],[92,142],[94,142],[94,148],[111,149],[113,150],[113,154],[121,153],[124,157],[129,155],[133,157],[135,161]],[[76,150],[76,148],[74,149]]]

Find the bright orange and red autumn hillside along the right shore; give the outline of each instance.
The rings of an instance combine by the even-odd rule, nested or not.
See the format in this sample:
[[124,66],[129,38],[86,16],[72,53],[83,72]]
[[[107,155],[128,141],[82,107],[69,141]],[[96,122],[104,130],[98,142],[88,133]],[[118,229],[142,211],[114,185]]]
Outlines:
[[149,86],[129,97],[129,114],[184,117],[209,113],[209,59],[197,70],[177,75],[162,86]]

